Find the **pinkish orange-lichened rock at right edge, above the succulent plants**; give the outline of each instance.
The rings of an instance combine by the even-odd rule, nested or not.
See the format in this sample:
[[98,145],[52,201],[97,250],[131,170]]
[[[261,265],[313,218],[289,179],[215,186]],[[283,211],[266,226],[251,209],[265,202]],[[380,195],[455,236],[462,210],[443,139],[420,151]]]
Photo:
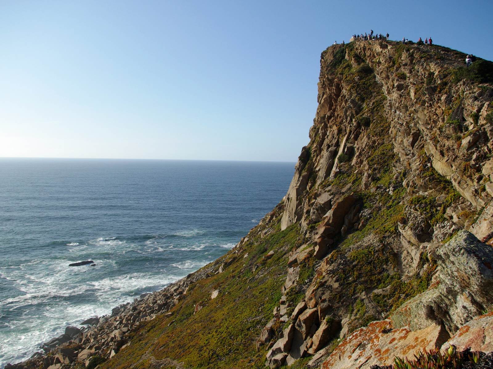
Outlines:
[[493,351],[493,311],[480,315],[460,327],[457,333],[443,344],[442,350],[451,345],[456,346],[458,351],[468,347],[471,351]]

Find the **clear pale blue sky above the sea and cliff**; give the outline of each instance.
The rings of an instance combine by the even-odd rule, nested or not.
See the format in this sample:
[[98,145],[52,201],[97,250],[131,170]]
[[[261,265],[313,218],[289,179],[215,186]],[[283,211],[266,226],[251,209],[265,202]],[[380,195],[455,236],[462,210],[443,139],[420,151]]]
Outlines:
[[0,156],[294,161],[320,53],[389,33],[493,59],[493,1],[0,1]]

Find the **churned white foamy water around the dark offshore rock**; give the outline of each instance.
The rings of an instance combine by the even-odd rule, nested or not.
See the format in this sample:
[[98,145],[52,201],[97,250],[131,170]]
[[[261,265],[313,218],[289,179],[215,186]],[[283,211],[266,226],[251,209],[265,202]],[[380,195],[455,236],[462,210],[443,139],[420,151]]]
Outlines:
[[[10,316],[8,324],[0,327],[0,368],[7,362],[26,360],[38,350],[41,342],[63,334],[67,325],[77,326],[90,316],[108,314],[113,307],[131,302],[141,293],[159,290],[206,265],[211,256],[197,260],[203,255],[201,250],[209,252],[234,246],[216,244],[205,237],[202,243],[186,239],[205,233],[200,230],[179,232],[177,235],[185,239],[176,242],[175,238],[173,244],[170,243],[173,238],[166,237],[151,238],[144,244],[117,237],[100,237],[80,244],[70,242],[66,244],[68,252],[59,256],[0,268],[0,277],[7,279],[17,291],[17,296],[0,299],[0,308]],[[194,244],[187,245],[188,242]],[[191,253],[183,254],[183,251]],[[128,259],[123,255],[129,252],[150,255],[169,252],[175,260],[179,260],[180,255],[187,255],[189,259],[172,264],[173,275],[163,268],[169,264],[159,271],[153,267],[149,273],[123,274],[126,269],[121,261]],[[96,266],[68,267],[69,263],[81,260],[94,260]],[[120,268],[123,269],[120,271]]]

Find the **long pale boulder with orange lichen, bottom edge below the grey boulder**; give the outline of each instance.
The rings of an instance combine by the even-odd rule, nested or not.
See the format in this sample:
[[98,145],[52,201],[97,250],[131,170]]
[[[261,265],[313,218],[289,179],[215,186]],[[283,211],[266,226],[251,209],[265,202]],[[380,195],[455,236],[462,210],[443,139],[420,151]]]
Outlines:
[[395,356],[412,358],[419,351],[440,347],[449,338],[443,326],[432,324],[423,330],[393,328],[381,320],[354,331],[332,351],[321,369],[370,369],[391,365]]

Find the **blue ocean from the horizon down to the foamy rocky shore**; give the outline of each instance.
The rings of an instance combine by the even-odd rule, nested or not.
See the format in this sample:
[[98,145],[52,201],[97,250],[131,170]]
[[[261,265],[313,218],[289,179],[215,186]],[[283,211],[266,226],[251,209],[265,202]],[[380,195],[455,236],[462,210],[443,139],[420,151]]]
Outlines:
[[[0,368],[233,247],[294,163],[0,158]],[[93,260],[95,266],[69,267]]]

